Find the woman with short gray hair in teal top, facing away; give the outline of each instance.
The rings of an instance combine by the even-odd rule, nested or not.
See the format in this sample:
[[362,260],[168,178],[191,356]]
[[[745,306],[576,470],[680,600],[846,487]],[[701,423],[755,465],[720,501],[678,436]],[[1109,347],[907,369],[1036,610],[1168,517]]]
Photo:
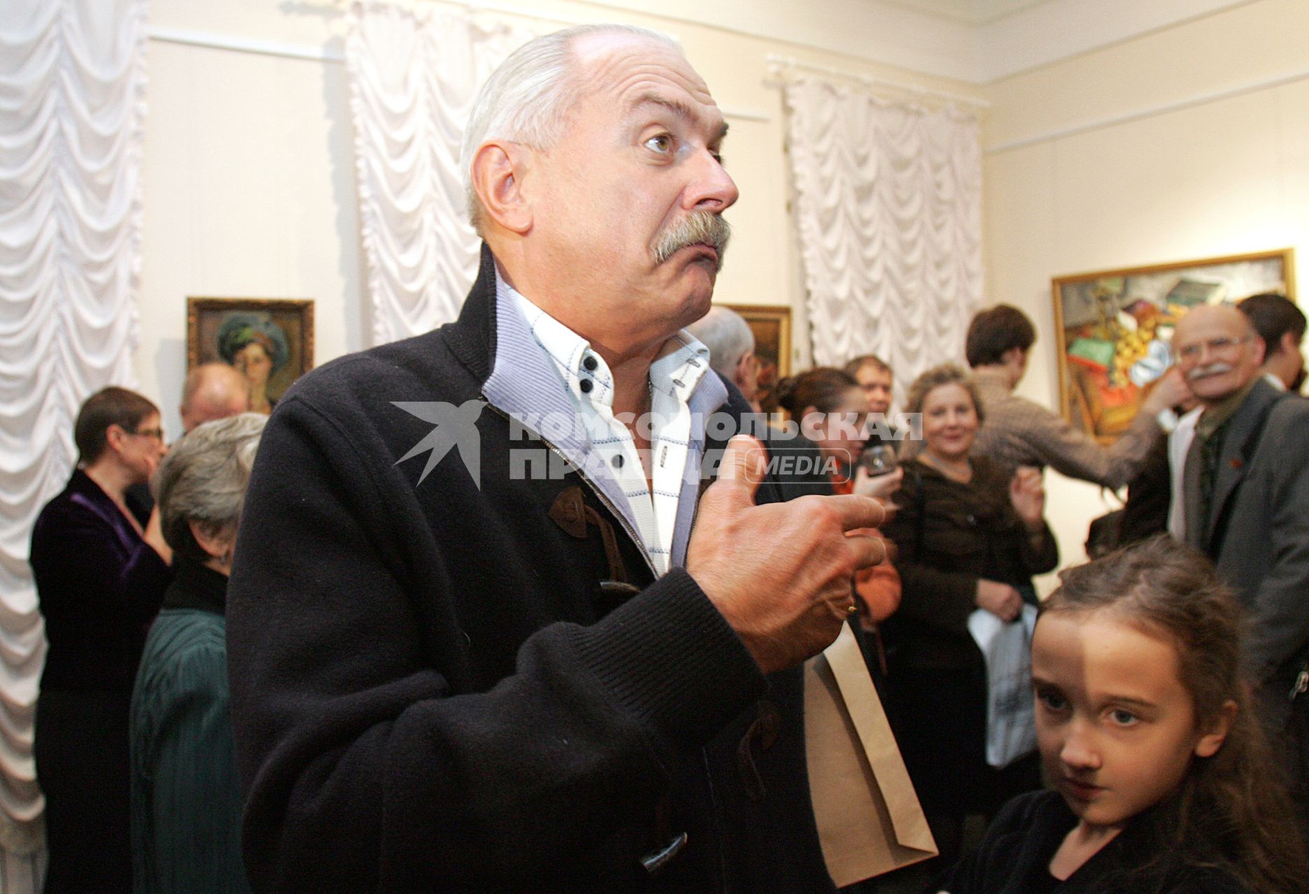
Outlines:
[[264,416],[196,427],[154,478],[177,576],[132,692],[135,890],[247,891],[228,719],[228,573]]

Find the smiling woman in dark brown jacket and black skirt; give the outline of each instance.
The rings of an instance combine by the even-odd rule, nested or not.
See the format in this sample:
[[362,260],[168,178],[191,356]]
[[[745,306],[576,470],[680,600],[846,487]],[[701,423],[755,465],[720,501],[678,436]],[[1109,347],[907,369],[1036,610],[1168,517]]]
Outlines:
[[1041,784],[1034,753],[1003,770],[986,760],[987,673],[969,617],[983,609],[1017,619],[1025,601],[1037,602],[1031,575],[1052,569],[1059,551],[1042,517],[1041,473],[1021,469],[1011,479],[971,453],[982,407],[963,370],[919,376],[906,411],[922,415],[925,444],[905,465],[899,512],[885,526],[903,596],[882,632],[897,738],[948,864],[966,815],[992,815]]

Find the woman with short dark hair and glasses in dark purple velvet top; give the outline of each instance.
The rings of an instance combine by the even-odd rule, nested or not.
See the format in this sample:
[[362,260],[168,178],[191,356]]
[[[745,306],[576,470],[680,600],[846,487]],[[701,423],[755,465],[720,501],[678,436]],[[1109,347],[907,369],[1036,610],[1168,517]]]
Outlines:
[[145,632],[171,577],[158,513],[128,487],[164,457],[158,408],[106,387],[77,414],[77,469],[37,517],[31,569],[46,624],[37,781],[46,796],[46,891],[132,885],[127,715]]

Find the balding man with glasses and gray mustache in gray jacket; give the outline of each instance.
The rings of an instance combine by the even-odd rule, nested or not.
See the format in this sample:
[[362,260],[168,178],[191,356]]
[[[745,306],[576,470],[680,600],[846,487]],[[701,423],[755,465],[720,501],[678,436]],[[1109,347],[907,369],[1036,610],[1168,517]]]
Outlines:
[[1263,339],[1230,305],[1189,312],[1173,349],[1202,408],[1182,473],[1186,541],[1245,603],[1249,671],[1306,813],[1309,401],[1263,378]]

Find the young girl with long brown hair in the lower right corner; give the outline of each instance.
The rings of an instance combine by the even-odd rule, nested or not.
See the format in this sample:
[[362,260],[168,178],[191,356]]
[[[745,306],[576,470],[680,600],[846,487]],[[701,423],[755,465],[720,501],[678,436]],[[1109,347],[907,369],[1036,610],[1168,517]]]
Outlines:
[[1291,894],[1309,868],[1240,678],[1240,609],[1165,538],[1060,575],[1031,641],[1054,792],[1011,801],[949,894]]

